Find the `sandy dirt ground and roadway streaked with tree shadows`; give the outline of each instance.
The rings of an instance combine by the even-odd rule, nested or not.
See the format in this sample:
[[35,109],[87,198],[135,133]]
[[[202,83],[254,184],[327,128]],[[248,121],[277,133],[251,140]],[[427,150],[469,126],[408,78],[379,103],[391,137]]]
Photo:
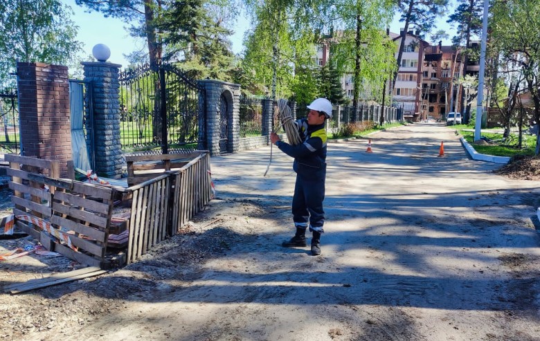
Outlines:
[[[290,158],[273,149],[264,178],[270,147],[215,157],[217,199],[182,234],[100,277],[1,294],[0,339],[540,340],[540,183],[493,174],[440,125],[370,138],[372,154],[329,145],[323,255],[280,247]],[[1,284],[76,266],[62,259],[0,263]]]

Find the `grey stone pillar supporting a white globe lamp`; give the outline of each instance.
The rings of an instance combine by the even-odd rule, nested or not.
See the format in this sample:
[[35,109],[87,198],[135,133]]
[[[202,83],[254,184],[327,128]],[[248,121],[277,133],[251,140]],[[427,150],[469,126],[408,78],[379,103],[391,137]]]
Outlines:
[[108,62],[82,62],[89,101],[87,111],[87,143],[92,146],[93,172],[107,178],[122,176],[120,145],[120,100],[118,73],[121,65]]

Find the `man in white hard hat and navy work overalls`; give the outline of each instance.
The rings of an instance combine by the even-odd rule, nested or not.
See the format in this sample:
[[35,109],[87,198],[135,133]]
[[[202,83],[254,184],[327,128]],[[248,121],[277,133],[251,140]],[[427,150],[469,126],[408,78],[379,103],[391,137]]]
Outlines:
[[276,133],[270,140],[281,151],[294,158],[296,184],[292,201],[293,221],[296,234],[284,241],[285,248],[305,247],[305,230],[313,232],[312,255],[321,255],[321,233],[324,232],[326,178],[326,131],[325,121],[332,118],[332,103],[325,98],[317,98],[307,106],[307,118],[297,120],[298,133],[303,143],[289,145],[280,140]]

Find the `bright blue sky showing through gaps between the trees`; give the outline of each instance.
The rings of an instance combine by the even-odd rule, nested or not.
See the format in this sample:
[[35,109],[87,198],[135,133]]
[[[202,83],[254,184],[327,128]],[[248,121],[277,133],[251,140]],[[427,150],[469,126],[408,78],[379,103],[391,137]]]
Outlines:
[[[115,18],[105,18],[99,12],[85,12],[84,8],[77,6],[75,0],[61,0],[67,5],[71,6],[75,12],[73,21],[79,26],[77,39],[84,44],[84,56],[91,55],[92,47],[96,44],[105,44],[111,49],[111,57],[109,62],[122,64],[127,66],[127,60],[123,54],[131,53],[134,50],[144,48],[144,42],[142,39],[136,40],[129,37],[123,21]],[[390,31],[399,33],[399,28],[402,24],[399,23],[398,16],[396,15]],[[242,52],[242,37],[244,31],[249,26],[249,20],[240,18],[235,26],[235,34],[231,37],[233,43],[233,52]],[[438,21],[438,29],[447,30],[450,36],[453,35],[453,30],[446,24],[445,19]],[[449,41],[442,42],[443,44],[451,44]]]

